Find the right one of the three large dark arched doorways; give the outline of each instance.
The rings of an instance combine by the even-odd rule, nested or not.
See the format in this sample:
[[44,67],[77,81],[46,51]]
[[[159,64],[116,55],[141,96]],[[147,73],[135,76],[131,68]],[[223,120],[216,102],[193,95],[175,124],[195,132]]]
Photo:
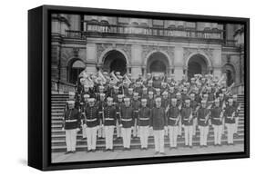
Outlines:
[[206,58],[201,54],[195,54],[189,58],[188,63],[188,79],[190,80],[194,74],[208,73],[208,63]]

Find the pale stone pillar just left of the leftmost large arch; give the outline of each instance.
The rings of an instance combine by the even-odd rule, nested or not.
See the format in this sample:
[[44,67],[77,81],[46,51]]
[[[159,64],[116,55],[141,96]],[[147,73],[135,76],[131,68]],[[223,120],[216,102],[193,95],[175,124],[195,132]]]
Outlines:
[[87,73],[96,73],[97,64],[97,46],[96,44],[87,44]]

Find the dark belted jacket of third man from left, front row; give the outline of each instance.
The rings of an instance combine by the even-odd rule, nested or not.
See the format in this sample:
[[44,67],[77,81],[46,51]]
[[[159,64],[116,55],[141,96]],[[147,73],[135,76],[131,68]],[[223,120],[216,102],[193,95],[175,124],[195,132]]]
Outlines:
[[104,108],[104,125],[114,126],[117,122],[117,111],[115,106],[106,106]]

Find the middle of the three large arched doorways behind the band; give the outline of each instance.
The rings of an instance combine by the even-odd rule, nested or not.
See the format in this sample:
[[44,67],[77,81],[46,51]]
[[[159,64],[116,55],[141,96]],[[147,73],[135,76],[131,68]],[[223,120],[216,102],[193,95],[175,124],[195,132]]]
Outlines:
[[165,54],[156,52],[148,57],[147,73],[169,73],[169,61]]

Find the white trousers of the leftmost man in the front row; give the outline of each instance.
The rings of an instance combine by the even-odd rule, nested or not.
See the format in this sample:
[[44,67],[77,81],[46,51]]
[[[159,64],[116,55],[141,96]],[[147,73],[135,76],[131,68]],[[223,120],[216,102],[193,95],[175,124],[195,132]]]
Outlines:
[[67,152],[76,151],[77,129],[66,130]]

